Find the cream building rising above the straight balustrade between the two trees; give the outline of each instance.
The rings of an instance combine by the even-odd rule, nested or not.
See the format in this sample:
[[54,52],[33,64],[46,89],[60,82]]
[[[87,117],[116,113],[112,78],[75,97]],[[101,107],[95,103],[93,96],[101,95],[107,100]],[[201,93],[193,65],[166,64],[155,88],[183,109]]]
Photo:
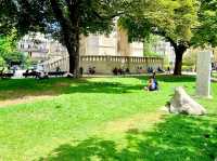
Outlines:
[[81,55],[143,56],[143,43],[128,42],[127,32],[116,29],[108,36],[90,35],[80,40]]

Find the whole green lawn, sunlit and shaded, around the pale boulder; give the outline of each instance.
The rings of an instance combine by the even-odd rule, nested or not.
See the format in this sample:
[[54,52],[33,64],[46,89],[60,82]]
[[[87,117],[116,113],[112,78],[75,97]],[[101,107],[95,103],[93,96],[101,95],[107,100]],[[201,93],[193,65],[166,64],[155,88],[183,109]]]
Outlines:
[[197,99],[208,115],[188,117],[159,109],[176,86],[193,94],[193,77],[159,76],[158,92],[146,79],[0,80],[0,160],[214,161],[217,83]]

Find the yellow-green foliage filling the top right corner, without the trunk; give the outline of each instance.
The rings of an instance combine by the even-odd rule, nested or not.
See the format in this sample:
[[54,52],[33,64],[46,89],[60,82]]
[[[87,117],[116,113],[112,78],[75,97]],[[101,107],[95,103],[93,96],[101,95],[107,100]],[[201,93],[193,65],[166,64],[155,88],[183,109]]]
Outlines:
[[130,40],[143,41],[153,32],[177,44],[216,46],[216,0],[139,0],[119,24],[128,29]]

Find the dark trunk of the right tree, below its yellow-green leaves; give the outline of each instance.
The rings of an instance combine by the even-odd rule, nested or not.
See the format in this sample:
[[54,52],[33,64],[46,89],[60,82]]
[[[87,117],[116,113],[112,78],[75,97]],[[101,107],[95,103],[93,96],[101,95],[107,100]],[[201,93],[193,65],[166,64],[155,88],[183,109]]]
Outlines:
[[174,69],[174,75],[175,76],[181,76],[181,68],[182,68],[182,57],[183,53],[186,52],[186,48],[177,48],[175,49],[175,54],[176,54],[176,62],[175,62],[175,69]]

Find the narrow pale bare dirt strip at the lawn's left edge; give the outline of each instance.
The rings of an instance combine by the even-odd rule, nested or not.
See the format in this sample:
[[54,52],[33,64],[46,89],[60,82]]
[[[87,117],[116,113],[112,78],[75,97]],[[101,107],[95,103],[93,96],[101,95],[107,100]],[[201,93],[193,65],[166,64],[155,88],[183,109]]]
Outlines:
[[48,99],[52,97],[53,96],[50,96],[50,95],[40,95],[40,96],[24,96],[22,98],[16,98],[16,99],[0,100],[0,107],[3,108],[10,105],[26,104],[26,103],[30,103],[30,102],[35,102],[39,99]]

